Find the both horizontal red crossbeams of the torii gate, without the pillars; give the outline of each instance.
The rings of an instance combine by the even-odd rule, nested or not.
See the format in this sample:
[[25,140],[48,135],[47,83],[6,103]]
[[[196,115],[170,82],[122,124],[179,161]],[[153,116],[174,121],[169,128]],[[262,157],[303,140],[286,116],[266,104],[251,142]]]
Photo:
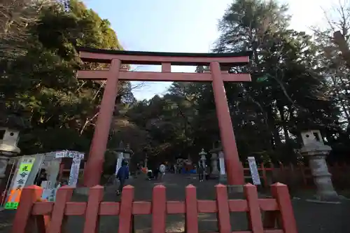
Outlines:
[[[206,82],[212,81],[211,73],[172,73],[172,65],[207,65],[216,62],[220,66],[223,81],[246,82],[251,81],[248,73],[228,73],[232,66],[248,64],[250,52],[235,53],[176,53],[176,52],[136,52],[123,50],[102,50],[95,48],[79,48],[80,59],[83,62],[99,62],[112,64],[113,60],[120,60],[119,64],[160,64],[162,72],[130,72],[121,67],[118,80],[134,81],[178,81],[178,82]],[[78,71],[79,79],[105,80],[109,70]],[[114,70],[115,71],[115,70]],[[112,71],[113,72],[113,71]]]

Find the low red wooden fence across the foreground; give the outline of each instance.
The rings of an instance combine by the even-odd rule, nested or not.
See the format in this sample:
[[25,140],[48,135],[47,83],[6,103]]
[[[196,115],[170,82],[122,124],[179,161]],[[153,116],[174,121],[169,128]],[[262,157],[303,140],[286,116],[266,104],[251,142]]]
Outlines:
[[258,199],[255,185],[248,183],[244,185],[246,199],[228,199],[227,187],[216,185],[216,200],[198,200],[195,186],[188,185],[185,202],[170,202],[165,186],[157,185],[152,202],[134,202],[134,187],[127,185],[121,202],[102,202],[104,188],[96,186],[90,189],[88,202],[69,202],[73,188],[64,186],[58,190],[56,202],[40,202],[42,189],[32,185],[22,191],[12,232],[35,232],[35,228],[38,233],[64,232],[68,216],[85,216],[83,233],[97,233],[99,216],[119,216],[118,232],[129,233],[134,215],[152,214],[152,233],[165,233],[167,214],[185,214],[186,232],[197,233],[198,214],[217,213],[219,232],[231,233],[230,212],[246,212],[250,229],[239,233],[296,233],[287,186],[276,183],[271,190],[272,199]]

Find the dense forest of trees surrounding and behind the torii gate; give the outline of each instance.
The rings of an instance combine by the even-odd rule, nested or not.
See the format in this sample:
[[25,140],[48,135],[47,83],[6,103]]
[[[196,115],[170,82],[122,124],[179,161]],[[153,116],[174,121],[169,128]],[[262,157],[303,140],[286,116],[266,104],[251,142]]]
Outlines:
[[[225,83],[242,161],[304,162],[305,129],[332,146],[329,162],[349,160],[350,6],[335,12],[313,34],[290,29],[288,6],[277,1],[232,1],[223,13],[212,52],[253,52],[244,68],[252,82]],[[105,83],[77,80],[76,71],[105,67],[82,64],[76,48],[123,50],[110,22],[78,0],[4,0],[0,13],[1,125],[20,127],[22,154],[88,153]],[[134,162],[196,161],[220,141],[211,83],[173,83],[164,96],[137,101],[132,91],[143,85],[118,86],[104,171],[113,172],[120,141]]]

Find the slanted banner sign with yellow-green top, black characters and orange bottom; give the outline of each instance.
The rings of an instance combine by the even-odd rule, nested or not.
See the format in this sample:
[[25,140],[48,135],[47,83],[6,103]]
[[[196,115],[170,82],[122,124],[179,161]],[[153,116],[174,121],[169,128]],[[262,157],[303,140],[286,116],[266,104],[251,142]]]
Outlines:
[[10,195],[8,195],[8,200],[5,204],[5,209],[17,209],[20,203],[20,195],[22,194],[22,189],[27,183],[29,173],[33,167],[35,158],[34,157],[22,157],[20,161],[19,169],[15,175],[15,180],[12,187],[10,188]]

